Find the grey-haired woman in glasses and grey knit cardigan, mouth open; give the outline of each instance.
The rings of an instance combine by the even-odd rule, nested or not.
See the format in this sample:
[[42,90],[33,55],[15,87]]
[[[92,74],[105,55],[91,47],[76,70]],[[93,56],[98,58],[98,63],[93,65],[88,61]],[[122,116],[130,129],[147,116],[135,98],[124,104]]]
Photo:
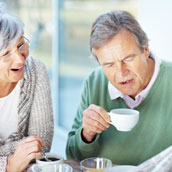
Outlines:
[[52,143],[48,74],[28,55],[23,23],[0,7],[0,172],[23,171]]

